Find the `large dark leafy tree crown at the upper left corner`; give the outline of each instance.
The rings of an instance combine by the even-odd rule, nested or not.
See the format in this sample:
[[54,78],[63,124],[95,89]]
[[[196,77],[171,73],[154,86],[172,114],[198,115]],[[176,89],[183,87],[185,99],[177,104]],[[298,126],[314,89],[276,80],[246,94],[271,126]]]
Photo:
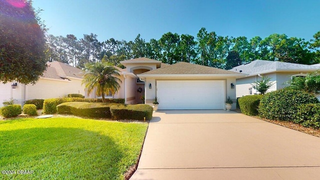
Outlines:
[[0,0],[0,81],[38,80],[46,68],[44,30],[31,0]]

